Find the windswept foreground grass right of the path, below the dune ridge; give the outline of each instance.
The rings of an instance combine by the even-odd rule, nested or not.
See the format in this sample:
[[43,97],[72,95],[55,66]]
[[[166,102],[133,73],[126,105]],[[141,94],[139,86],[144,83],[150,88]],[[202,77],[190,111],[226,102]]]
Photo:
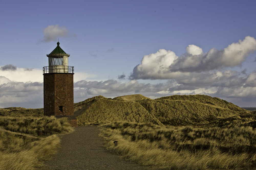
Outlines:
[[[158,169],[255,169],[252,127],[159,126],[114,122],[101,128],[107,149]],[[118,146],[114,147],[113,141]]]

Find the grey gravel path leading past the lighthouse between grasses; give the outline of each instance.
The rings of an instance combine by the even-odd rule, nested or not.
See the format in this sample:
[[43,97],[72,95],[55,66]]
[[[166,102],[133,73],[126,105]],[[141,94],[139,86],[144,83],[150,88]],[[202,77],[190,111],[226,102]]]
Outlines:
[[[121,159],[103,146],[97,126],[74,128],[69,134],[59,135],[61,148],[42,169],[148,169]],[[114,143],[113,143],[114,145]]]

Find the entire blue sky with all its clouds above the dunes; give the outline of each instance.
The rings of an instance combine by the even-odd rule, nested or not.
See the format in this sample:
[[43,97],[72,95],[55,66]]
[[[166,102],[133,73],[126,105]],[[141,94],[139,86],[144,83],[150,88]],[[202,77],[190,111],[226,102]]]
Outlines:
[[256,106],[256,1],[0,1],[0,108],[43,108],[46,54],[74,66],[74,102],[204,94]]

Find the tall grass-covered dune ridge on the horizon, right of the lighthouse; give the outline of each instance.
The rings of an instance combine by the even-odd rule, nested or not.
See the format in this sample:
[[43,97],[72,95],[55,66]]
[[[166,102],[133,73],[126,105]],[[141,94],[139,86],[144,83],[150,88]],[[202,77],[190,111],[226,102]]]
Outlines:
[[209,125],[232,116],[251,114],[232,103],[205,95],[174,95],[149,99],[142,95],[108,99],[95,96],[74,104],[78,125],[112,121],[152,122],[185,126]]

